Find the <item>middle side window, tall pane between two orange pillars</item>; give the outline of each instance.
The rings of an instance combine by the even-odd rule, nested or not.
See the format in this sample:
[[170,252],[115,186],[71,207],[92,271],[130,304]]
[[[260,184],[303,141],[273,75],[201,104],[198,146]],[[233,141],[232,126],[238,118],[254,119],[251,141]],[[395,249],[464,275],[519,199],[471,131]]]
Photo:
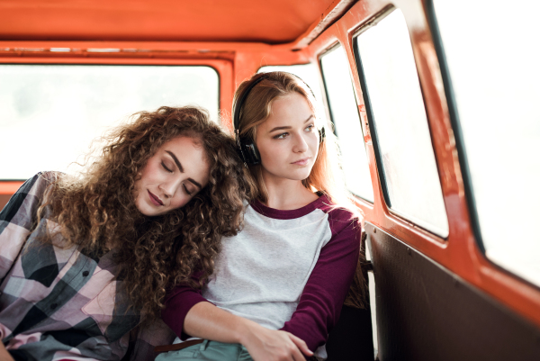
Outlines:
[[[428,119],[399,9],[356,37],[386,190],[393,212],[441,237],[448,235],[445,203]],[[372,131],[373,132],[373,131]]]

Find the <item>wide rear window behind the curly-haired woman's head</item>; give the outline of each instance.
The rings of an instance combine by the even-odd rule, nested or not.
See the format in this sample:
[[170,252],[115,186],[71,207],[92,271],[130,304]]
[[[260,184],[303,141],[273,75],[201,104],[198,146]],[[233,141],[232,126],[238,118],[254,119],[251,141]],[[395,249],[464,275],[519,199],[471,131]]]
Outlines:
[[0,179],[78,170],[92,140],[135,112],[197,104],[217,121],[218,96],[209,67],[0,65]]

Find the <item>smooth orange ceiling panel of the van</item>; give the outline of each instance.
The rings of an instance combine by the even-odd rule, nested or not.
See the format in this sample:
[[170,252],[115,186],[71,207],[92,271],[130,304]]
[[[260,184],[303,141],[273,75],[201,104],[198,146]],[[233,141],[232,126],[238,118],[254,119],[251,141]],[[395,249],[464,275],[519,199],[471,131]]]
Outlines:
[[338,0],[2,0],[1,41],[291,42]]

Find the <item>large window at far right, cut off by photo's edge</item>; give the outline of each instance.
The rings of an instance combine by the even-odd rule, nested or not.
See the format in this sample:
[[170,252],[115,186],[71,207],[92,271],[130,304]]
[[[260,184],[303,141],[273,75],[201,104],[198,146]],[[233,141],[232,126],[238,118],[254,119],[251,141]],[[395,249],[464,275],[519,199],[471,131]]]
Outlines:
[[486,256],[540,285],[540,3],[434,5]]

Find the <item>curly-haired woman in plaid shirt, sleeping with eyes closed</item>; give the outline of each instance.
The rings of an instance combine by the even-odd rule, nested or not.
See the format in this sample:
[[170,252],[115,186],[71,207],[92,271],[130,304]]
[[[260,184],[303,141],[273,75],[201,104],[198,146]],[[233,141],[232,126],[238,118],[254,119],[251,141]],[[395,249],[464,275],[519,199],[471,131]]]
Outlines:
[[81,176],[39,173],[0,212],[4,357],[153,359],[174,338],[167,289],[211,275],[241,226],[243,165],[202,109],[137,113],[104,140]]

